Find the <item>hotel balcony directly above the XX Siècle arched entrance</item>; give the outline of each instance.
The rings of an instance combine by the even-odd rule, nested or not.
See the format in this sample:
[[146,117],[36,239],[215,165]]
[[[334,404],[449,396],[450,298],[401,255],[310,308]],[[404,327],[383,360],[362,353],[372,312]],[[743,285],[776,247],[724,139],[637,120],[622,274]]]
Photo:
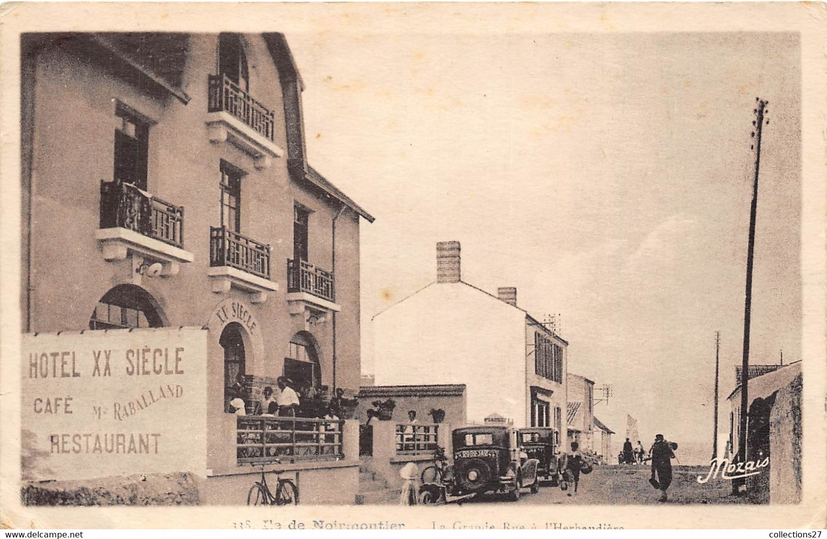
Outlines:
[[268,292],[279,289],[270,280],[270,246],[227,227],[210,227],[209,265],[215,293],[234,286],[253,293],[252,303],[262,303]]

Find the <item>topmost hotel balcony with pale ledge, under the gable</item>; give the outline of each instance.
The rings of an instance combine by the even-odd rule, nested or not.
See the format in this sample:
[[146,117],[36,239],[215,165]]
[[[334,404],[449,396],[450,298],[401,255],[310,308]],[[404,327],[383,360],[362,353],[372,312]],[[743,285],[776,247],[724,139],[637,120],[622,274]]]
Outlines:
[[213,144],[228,141],[251,155],[256,169],[284,155],[275,144],[275,113],[227,78],[209,75],[207,127]]

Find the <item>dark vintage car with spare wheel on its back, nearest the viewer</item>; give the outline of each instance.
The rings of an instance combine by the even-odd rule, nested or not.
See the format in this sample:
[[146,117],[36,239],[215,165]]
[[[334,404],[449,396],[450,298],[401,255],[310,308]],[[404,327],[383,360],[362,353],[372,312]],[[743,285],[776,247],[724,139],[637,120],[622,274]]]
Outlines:
[[517,501],[524,487],[538,491],[538,460],[526,455],[513,428],[457,428],[452,442],[454,465],[448,494],[500,492]]

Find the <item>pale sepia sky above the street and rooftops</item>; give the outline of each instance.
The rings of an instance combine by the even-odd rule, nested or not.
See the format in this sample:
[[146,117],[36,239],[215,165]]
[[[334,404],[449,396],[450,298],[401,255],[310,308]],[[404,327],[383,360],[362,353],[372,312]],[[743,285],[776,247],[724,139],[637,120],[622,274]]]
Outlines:
[[801,359],[796,35],[287,38],[310,162],[376,217],[361,227],[363,372],[370,317],[433,282],[436,242],[457,240],[463,280],[560,313],[569,370],[613,386],[601,421],[711,443],[715,332],[721,398],[742,354],[757,96],[751,361]]

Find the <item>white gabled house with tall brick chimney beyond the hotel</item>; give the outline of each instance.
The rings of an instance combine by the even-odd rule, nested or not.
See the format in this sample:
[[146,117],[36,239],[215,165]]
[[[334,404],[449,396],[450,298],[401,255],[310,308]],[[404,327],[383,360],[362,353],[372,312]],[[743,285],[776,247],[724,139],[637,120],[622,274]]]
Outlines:
[[461,280],[460,244],[437,244],[437,281],[375,315],[375,384],[466,384],[467,417],[562,431],[568,343],[517,306]]

